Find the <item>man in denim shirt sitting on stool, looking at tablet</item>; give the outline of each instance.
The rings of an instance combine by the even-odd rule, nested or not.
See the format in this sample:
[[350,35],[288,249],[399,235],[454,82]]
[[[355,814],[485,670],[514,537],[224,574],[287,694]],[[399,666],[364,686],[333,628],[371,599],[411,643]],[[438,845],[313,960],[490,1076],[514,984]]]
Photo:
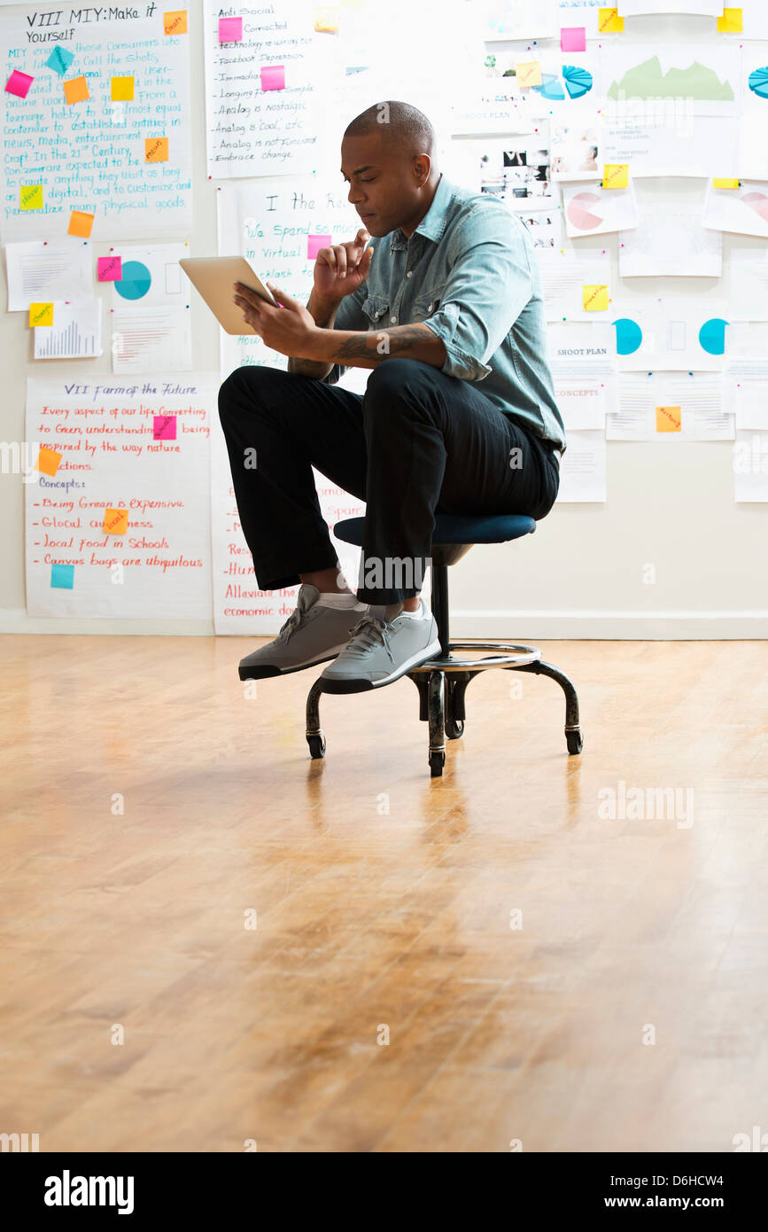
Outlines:
[[[341,145],[362,227],[318,253],[306,307],[272,285],[281,308],[233,288],[244,319],[289,356],[287,372],[244,366],[219,391],[240,521],[260,588],[302,583],[278,637],[241,660],[242,680],[330,659],[329,692],[398,680],[439,653],[420,598],[434,513],[542,519],[555,503],[566,442],[533,243],[502,202],[449,184],[434,147],[407,103],[362,112]],[[364,395],[335,388],[348,366],[372,370]],[[313,466],[366,500],[357,594]]]

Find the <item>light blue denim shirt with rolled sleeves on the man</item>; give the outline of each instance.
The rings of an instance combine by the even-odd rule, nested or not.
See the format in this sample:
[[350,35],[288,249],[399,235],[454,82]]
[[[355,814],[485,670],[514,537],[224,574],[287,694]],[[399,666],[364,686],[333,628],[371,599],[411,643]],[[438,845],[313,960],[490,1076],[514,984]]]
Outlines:
[[[528,228],[501,201],[443,175],[418,227],[373,237],[366,282],[346,296],[335,329],[384,331],[423,322],[443,340],[442,371],[565,452],[546,351],[542,275]],[[383,362],[386,362],[385,360]],[[335,384],[346,366],[325,377]]]

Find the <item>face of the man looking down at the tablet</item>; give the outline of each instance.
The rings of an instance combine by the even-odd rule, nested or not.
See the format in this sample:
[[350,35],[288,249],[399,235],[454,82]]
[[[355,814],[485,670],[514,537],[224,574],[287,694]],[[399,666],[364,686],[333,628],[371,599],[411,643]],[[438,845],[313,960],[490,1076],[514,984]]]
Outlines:
[[[383,124],[383,128],[386,126]],[[426,175],[418,174],[426,170]],[[372,235],[416,227],[423,214],[422,190],[428,163],[399,152],[379,133],[345,137],[341,174],[350,185],[348,201]]]

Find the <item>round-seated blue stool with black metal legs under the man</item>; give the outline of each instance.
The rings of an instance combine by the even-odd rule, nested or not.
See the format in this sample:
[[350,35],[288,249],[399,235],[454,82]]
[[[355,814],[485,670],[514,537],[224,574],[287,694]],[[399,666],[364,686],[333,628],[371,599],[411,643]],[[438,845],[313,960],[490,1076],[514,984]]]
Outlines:
[[[336,522],[334,533],[345,543],[362,547],[364,517]],[[455,564],[474,543],[508,543],[535,531],[533,517],[518,514],[479,515],[436,514],[432,535],[432,615],[437,623],[441,654],[404,673],[418,690],[418,718],[430,724],[430,771],[439,777],[446,764],[446,738],[458,740],[464,733],[464,694],[470,680],[489,668],[505,671],[534,671],[556,680],[565,694],[565,740],[569,753],[581,753],[583,736],[578,726],[578,699],[569,678],[542,660],[535,646],[511,642],[452,642],[448,633],[448,567]],[[457,658],[454,652],[492,650],[479,659]],[[311,758],[325,754],[325,736],[320,727],[322,678],[315,680],[306,699],[306,743]]]

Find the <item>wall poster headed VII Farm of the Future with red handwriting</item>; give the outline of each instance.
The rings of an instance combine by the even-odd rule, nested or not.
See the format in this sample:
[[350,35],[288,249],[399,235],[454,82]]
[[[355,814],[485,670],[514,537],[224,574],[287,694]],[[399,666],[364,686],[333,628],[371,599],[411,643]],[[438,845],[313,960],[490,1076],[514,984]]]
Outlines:
[[30,377],[30,616],[210,616],[210,410],[197,373]]

